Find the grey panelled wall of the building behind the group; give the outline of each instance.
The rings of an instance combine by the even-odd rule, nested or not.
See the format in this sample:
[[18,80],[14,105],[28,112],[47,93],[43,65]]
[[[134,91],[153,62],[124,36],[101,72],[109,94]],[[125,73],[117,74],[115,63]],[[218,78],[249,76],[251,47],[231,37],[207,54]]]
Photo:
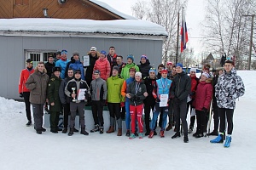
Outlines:
[[[0,96],[8,99],[20,99],[18,83],[20,71],[26,67],[26,50],[61,50],[67,49],[68,59],[73,51],[79,51],[80,56],[87,54],[91,46],[98,51],[110,46],[116,48],[116,53],[126,61],[127,54],[134,54],[135,63],[139,64],[142,54],[148,55],[151,65],[157,67],[161,62],[162,40],[87,38],[87,37],[8,37],[0,36]],[[34,65],[36,66],[36,65]]]

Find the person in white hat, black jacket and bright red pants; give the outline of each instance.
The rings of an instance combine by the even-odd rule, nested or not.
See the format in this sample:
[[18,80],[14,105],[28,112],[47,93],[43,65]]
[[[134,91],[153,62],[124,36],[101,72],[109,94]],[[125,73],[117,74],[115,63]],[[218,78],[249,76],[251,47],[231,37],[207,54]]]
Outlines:
[[135,139],[136,119],[139,127],[139,138],[143,139],[143,99],[147,95],[146,85],[142,81],[142,73],[135,74],[135,81],[131,82],[127,88],[125,96],[130,99],[131,114],[131,135],[129,139]]

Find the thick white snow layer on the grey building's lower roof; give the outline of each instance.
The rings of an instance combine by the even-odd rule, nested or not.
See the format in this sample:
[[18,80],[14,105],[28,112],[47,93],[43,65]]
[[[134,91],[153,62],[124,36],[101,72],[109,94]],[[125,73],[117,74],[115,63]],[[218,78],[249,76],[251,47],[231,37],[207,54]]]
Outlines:
[[0,19],[2,32],[79,32],[165,36],[163,26],[146,20]]

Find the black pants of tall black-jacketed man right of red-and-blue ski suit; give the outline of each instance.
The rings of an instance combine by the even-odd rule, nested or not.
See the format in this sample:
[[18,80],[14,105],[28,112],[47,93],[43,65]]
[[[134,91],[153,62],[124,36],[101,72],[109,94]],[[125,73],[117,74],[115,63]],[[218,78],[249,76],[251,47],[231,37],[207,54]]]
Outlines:
[[183,123],[184,136],[188,136],[188,123],[187,123],[187,100],[180,102],[173,102],[174,115],[175,115],[175,128],[180,132],[180,119]]

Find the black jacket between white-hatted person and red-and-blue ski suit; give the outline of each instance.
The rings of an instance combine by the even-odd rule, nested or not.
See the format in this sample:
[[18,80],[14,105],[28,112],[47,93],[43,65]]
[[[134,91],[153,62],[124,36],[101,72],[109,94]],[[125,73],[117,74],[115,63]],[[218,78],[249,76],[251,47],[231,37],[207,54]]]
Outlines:
[[153,89],[156,88],[156,80],[157,80],[156,77],[154,77],[154,79],[151,79],[149,77],[146,77],[144,79],[144,84],[146,85],[147,92],[148,92],[147,98],[144,99],[145,105],[151,105],[155,103],[155,99],[152,92],[153,92]]

